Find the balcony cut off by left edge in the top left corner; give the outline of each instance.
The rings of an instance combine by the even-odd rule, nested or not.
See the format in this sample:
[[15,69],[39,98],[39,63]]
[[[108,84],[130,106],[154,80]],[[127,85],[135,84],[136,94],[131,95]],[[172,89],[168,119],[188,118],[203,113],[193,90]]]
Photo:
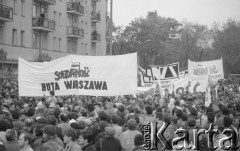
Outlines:
[[13,21],[13,8],[0,4],[0,21],[1,22]]

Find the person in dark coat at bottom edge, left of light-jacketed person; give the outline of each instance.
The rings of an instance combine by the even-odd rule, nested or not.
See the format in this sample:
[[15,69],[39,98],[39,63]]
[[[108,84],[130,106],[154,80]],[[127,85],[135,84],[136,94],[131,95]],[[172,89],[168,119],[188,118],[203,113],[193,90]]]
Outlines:
[[115,129],[113,127],[105,127],[105,137],[100,138],[96,143],[97,148],[104,151],[122,151],[121,143],[118,139],[114,138]]

